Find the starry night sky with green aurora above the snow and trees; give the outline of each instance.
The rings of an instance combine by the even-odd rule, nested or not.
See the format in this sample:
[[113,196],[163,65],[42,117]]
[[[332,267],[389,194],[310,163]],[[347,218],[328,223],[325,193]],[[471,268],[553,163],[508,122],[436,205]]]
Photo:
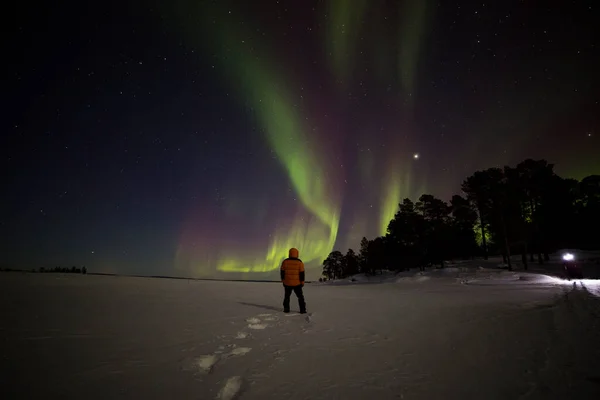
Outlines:
[[5,267],[315,279],[477,169],[600,173],[591,0],[18,4]]

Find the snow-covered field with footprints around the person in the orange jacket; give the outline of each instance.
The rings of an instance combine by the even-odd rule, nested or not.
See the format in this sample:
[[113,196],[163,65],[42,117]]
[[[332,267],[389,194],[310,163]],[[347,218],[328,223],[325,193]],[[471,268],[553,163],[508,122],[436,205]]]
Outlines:
[[595,281],[360,281],[307,284],[306,316],[277,283],[3,273],[0,398],[600,399]]

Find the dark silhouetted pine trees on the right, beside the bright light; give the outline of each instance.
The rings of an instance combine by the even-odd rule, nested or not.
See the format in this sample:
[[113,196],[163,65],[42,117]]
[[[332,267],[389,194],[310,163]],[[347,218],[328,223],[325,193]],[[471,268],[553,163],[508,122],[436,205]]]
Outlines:
[[444,267],[444,260],[502,254],[543,264],[562,248],[600,247],[600,175],[581,181],[554,173],[546,160],[527,159],[515,168],[477,171],[449,203],[430,194],[406,198],[384,236],[362,239],[358,254],[333,251],[323,261],[322,279],[345,278],[382,269]]

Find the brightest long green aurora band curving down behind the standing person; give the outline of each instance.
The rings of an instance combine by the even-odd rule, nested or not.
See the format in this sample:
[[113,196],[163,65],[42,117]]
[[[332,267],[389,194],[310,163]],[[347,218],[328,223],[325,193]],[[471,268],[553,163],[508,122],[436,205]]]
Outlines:
[[[227,14],[223,10],[216,12]],[[340,207],[330,200],[333,196],[327,192],[321,158],[309,145],[304,134],[305,127],[291,101],[292,96],[285,90],[290,85],[278,76],[275,68],[269,68],[274,64],[264,61],[267,53],[257,51],[257,43],[252,47],[245,45],[242,38],[249,36],[236,33],[233,27],[240,24],[234,24],[233,17],[230,19],[232,23],[227,26],[210,23],[211,37],[216,38],[218,44],[214,50],[223,61],[222,68],[232,88],[239,89],[240,97],[254,111],[298,198],[314,219],[306,221],[297,217],[291,229],[274,235],[263,257],[253,260],[221,257],[217,269],[223,272],[273,271],[279,268],[282,255],[287,254],[290,247],[301,248],[302,259],[306,263],[320,262],[333,250],[337,239]],[[209,267],[197,266],[192,270],[197,272]]]

